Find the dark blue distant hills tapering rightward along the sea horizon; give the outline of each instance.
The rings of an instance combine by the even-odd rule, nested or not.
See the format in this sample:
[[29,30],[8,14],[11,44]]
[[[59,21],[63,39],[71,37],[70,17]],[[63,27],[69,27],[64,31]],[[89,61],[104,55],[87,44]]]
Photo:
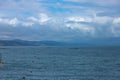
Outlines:
[[57,41],[26,41],[26,40],[0,40],[0,46],[62,46]]

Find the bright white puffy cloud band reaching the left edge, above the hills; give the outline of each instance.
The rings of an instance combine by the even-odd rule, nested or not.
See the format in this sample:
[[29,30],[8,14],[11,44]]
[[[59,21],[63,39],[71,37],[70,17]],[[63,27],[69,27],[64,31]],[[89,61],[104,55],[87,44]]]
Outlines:
[[37,17],[31,16],[24,20],[18,20],[17,18],[0,18],[0,24],[8,24],[15,26],[33,26],[34,24],[45,25],[49,22],[50,17],[45,13],[40,13]]

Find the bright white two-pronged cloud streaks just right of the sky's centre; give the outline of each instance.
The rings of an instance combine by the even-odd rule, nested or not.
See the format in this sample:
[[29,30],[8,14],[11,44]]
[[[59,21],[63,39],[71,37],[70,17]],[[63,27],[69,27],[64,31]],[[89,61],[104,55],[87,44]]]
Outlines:
[[94,27],[87,25],[86,23],[92,22],[92,18],[83,18],[83,17],[68,17],[65,21],[65,26],[82,32],[84,35],[93,35],[95,32]]

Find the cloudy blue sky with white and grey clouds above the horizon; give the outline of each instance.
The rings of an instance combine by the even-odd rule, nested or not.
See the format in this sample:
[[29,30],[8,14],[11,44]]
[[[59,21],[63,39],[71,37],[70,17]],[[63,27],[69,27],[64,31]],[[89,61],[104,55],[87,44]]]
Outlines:
[[0,0],[0,39],[120,37],[120,0]]

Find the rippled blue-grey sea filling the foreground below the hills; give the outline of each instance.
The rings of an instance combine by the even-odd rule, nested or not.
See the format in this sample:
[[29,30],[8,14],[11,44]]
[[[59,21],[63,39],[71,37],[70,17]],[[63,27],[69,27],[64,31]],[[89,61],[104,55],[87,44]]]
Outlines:
[[120,80],[120,47],[0,49],[0,80]]

